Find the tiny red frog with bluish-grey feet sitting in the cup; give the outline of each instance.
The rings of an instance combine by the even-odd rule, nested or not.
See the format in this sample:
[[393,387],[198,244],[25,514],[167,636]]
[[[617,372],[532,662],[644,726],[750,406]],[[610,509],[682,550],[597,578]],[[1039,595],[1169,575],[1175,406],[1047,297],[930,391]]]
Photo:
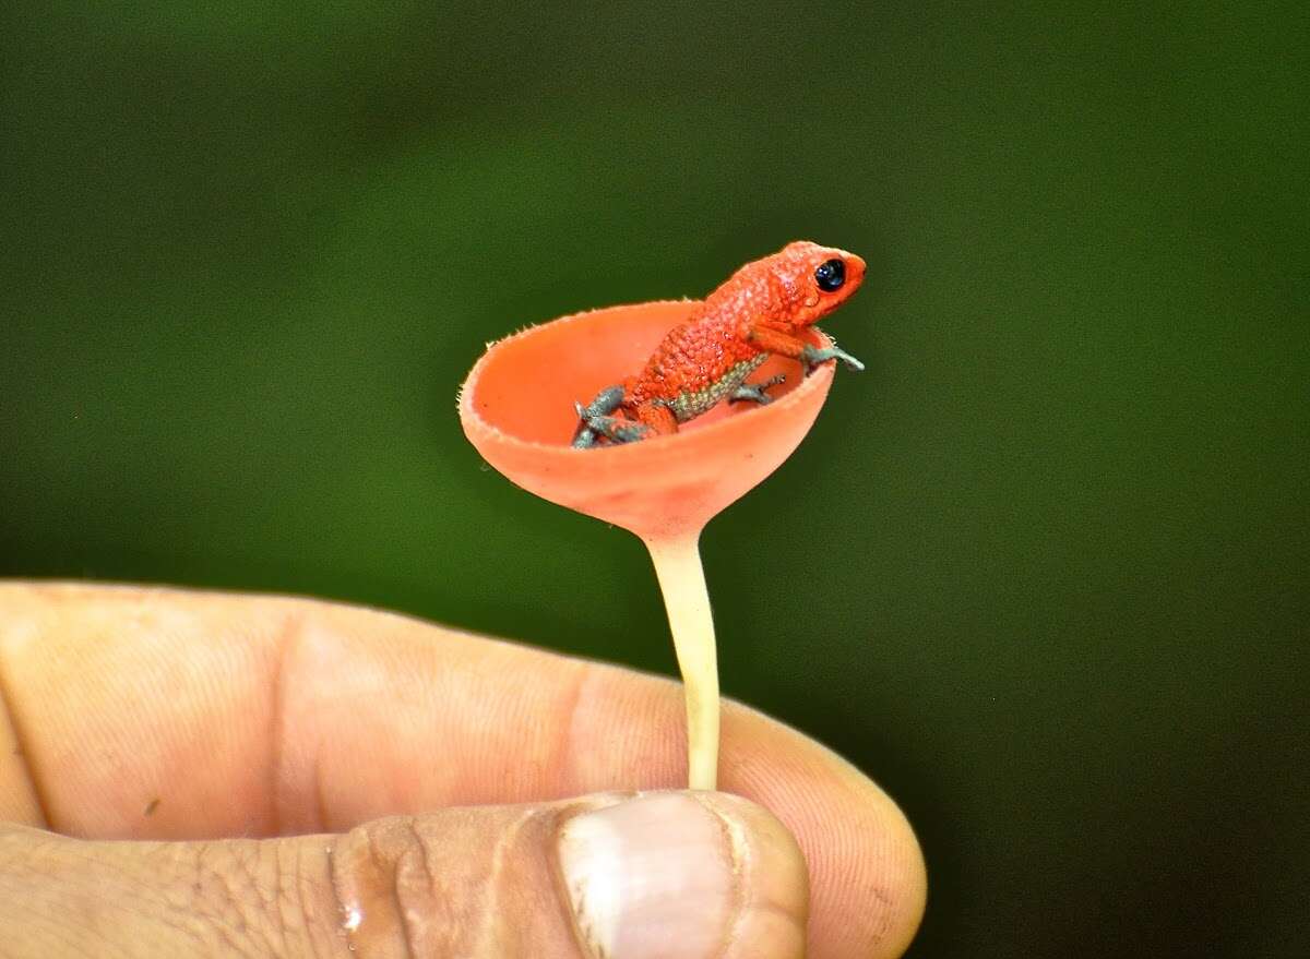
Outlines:
[[[865,279],[865,261],[854,253],[808,241],[747,263],[697,304],[690,318],[669,330],[646,368],[603,389],[588,406],[575,404],[572,444],[593,447],[604,436],[631,443],[677,432],[718,402],[766,404],[765,392],[781,376],[747,384],[769,354],[815,364],[840,359],[852,369],[865,364],[836,346],[817,348],[798,333],[850,299]],[[622,417],[610,415],[621,411]]]

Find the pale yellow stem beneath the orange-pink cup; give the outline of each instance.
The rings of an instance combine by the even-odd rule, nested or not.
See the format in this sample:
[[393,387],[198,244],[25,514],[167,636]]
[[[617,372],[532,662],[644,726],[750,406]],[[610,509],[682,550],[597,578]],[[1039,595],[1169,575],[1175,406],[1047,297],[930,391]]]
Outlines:
[[677,668],[686,694],[686,785],[715,789],[719,766],[719,669],[714,620],[705,570],[697,546],[700,531],[686,536],[651,537],[646,546],[655,563],[664,609],[673,633]]

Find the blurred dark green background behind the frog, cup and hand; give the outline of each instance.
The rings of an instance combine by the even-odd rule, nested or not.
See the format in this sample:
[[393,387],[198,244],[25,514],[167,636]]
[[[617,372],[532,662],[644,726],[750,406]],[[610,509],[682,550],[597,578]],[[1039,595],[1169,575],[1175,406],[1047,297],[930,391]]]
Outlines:
[[1305,955],[1303,4],[0,20],[0,574],[672,672],[638,541],[489,472],[456,388],[845,246],[870,369],[705,535],[726,692],[904,806],[913,956]]

